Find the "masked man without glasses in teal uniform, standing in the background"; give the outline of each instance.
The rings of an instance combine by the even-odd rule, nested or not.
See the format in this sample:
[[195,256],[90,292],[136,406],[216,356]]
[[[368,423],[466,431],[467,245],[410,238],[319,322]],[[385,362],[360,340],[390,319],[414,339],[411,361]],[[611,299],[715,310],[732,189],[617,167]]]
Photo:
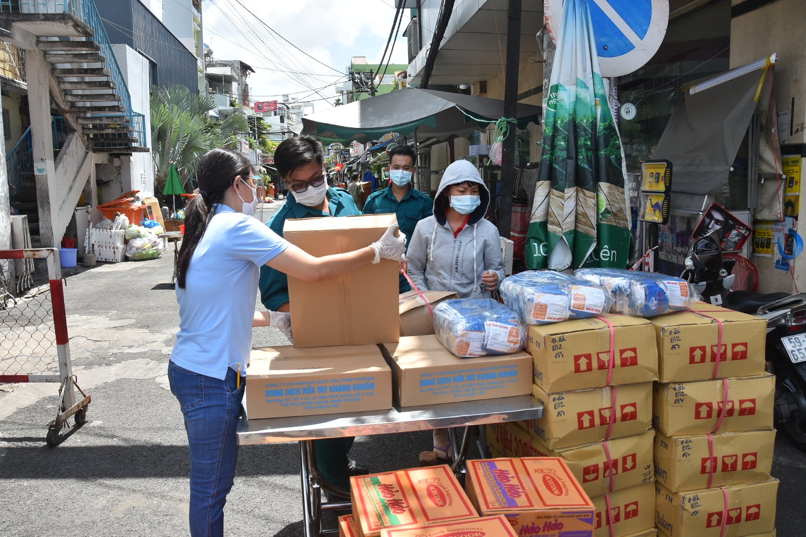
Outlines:
[[[276,157],[275,157],[276,158]],[[389,151],[389,179],[387,188],[373,192],[364,204],[364,214],[395,213],[401,233],[405,233],[406,246],[414,234],[418,221],[434,213],[434,200],[411,186],[417,171],[417,155],[409,146],[397,146]],[[405,277],[400,277],[400,292],[410,291]]]

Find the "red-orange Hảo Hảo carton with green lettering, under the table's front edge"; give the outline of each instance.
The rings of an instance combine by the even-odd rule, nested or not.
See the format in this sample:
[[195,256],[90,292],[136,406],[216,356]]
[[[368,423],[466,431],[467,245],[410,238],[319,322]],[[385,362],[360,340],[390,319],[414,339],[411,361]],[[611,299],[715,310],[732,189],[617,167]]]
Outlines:
[[379,537],[384,527],[416,527],[478,518],[447,465],[350,478],[355,527]]

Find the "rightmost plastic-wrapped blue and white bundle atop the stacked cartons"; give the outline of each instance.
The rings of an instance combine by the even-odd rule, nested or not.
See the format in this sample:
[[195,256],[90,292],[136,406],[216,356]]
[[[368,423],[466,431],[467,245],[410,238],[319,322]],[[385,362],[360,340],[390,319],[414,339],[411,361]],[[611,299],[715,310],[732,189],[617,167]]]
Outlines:
[[613,296],[613,312],[654,317],[690,308],[696,296],[684,279],[650,272],[590,268],[574,275],[598,283]]

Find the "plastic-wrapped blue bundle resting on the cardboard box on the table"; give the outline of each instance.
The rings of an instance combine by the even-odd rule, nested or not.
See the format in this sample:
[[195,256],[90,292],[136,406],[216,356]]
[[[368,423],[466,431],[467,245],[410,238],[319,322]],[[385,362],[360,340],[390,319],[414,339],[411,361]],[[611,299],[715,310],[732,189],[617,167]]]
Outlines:
[[434,308],[434,332],[460,358],[517,353],[526,347],[526,326],[493,299],[445,300]]

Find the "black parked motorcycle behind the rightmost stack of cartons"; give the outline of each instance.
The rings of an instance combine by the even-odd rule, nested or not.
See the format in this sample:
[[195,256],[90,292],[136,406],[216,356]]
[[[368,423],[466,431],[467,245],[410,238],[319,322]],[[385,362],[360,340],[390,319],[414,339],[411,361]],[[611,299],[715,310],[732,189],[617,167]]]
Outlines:
[[775,374],[775,426],[806,452],[806,293],[732,291],[733,261],[712,236],[697,239],[681,277],[711,304],[767,320],[766,369]]

